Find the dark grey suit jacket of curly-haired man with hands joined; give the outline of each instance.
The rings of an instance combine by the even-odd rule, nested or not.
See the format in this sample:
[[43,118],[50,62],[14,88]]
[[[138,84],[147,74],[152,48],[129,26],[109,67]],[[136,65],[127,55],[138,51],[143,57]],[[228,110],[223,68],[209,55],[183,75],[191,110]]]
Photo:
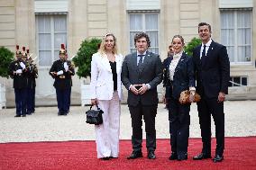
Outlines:
[[122,67],[122,82],[129,90],[130,85],[149,84],[149,89],[145,94],[133,94],[128,91],[128,105],[136,106],[140,101],[142,105],[157,105],[158,92],[157,85],[162,81],[162,63],[160,56],[151,52],[146,53],[142,64],[142,71],[137,67],[137,53],[125,56]]

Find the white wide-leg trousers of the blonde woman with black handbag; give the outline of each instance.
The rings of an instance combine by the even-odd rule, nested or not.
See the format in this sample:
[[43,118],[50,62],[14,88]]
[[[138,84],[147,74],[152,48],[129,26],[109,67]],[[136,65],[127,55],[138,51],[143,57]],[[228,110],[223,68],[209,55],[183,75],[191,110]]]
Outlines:
[[121,106],[117,91],[111,100],[99,100],[98,106],[104,113],[103,123],[95,126],[97,158],[118,157]]

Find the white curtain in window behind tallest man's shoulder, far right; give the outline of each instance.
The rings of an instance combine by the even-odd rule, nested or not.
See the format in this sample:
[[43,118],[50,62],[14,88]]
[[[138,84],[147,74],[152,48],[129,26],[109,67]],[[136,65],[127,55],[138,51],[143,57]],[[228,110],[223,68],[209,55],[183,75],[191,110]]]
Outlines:
[[233,63],[251,61],[251,10],[221,11],[221,40]]

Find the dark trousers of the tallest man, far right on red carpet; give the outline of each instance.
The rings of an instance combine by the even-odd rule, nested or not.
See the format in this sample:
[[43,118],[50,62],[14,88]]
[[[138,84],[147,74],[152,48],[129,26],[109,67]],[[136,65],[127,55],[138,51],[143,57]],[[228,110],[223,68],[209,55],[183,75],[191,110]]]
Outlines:
[[211,154],[211,114],[215,121],[216,148],[215,154],[222,156],[224,153],[224,103],[217,99],[208,99],[205,96],[197,103],[197,111],[203,142],[202,152]]

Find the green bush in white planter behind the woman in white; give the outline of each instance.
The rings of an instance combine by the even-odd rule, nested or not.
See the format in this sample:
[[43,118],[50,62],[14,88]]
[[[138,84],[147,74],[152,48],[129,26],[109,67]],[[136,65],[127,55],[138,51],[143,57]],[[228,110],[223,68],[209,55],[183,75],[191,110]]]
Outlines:
[[72,59],[75,67],[78,67],[77,75],[82,78],[81,81],[81,104],[90,103],[89,96],[89,78],[91,76],[91,60],[94,53],[97,52],[101,40],[92,38],[83,40],[80,48],[78,49],[77,55]]

